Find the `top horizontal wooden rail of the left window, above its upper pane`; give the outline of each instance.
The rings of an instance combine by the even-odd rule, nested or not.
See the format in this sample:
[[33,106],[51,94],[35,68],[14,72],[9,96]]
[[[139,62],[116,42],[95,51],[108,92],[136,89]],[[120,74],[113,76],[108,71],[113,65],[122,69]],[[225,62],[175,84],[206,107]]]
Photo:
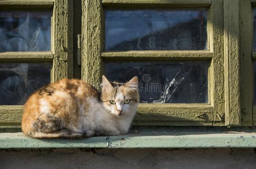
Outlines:
[[50,9],[53,0],[0,0],[0,9]]

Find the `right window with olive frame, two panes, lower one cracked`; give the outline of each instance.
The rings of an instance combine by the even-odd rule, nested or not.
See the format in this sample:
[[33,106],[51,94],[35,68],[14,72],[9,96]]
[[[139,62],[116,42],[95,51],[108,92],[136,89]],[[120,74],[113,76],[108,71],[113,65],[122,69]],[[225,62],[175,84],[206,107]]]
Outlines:
[[99,86],[102,74],[138,76],[136,125],[224,125],[221,5],[84,0],[82,78]]

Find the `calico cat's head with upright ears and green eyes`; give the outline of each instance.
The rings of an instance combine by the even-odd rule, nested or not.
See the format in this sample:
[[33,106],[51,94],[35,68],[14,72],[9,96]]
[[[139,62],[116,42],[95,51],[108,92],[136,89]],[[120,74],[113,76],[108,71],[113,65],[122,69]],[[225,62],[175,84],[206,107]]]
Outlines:
[[127,83],[110,82],[102,76],[101,99],[107,111],[116,116],[133,116],[139,103],[138,78]]

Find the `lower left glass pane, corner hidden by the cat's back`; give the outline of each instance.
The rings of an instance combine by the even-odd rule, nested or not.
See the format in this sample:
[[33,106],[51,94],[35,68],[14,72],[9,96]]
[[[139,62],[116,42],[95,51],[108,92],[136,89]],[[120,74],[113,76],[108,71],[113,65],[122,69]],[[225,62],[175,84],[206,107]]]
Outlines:
[[0,63],[0,105],[23,105],[50,83],[50,63]]

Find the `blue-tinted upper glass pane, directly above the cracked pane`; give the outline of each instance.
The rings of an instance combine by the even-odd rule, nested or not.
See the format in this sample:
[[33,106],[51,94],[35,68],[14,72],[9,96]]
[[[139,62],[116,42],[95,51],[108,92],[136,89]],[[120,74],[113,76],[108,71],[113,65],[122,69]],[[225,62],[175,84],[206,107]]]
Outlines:
[[105,10],[105,50],[206,50],[206,10]]

